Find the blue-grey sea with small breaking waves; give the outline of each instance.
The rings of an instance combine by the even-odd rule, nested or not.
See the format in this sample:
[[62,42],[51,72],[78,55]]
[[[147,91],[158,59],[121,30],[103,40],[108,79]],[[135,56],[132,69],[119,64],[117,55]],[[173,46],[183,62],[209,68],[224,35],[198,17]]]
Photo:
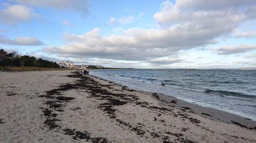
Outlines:
[[90,74],[256,121],[256,70],[108,69]]

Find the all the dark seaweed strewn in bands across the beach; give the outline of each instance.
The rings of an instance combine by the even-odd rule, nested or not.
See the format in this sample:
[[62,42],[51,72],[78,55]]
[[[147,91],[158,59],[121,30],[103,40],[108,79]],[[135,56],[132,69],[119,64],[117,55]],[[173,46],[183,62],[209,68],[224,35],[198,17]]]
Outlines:
[[[151,135],[153,138],[162,138],[163,142],[171,142],[170,138],[173,138],[171,136],[175,136],[177,139],[175,141],[179,142],[194,142],[192,140],[188,140],[186,138],[183,138],[182,133],[161,133],[161,132],[155,132],[155,131],[149,131],[144,129],[144,125],[142,123],[127,123],[120,119],[117,119],[116,117],[116,111],[117,109],[115,106],[123,106],[125,104],[131,103],[133,105],[139,105],[141,107],[145,107],[150,109],[153,112],[157,113],[157,117],[164,115],[174,115],[175,117],[180,117],[184,119],[188,119],[190,122],[195,123],[196,125],[200,123],[201,121],[189,117],[186,113],[178,113],[178,115],[175,114],[174,110],[172,108],[166,108],[166,107],[158,107],[158,106],[152,106],[151,103],[148,102],[141,102],[139,101],[139,98],[132,94],[126,94],[122,91],[128,91],[132,92],[133,90],[127,89],[127,87],[122,87],[122,90],[120,93],[113,93],[111,90],[113,90],[112,85],[109,84],[100,84],[99,82],[95,81],[93,78],[90,77],[84,77],[79,73],[73,73],[72,75],[68,75],[68,77],[77,78],[77,81],[75,83],[67,83],[60,85],[60,87],[47,91],[45,97],[47,101],[45,104],[48,106],[46,108],[43,108],[43,115],[46,117],[45,124],[49,127],[49,129],[57,129],[59,132],[62,132],[66,135],[70,135],[73,137],[73,139],[86,139],[91,142],[108,142],[109,140],[103,137],[91,137],[91,133],[88,131],[78,131],[76,129],[69,129],[69,128],[63,128],[61,125],[57,124],[60,120],[58,119],[58,115],[56,113],[53,113],[54,111],[63,111],[63,107],[66,106],[66,104],[72,100],[74,100],[74,97],[66,97],[62,95],[62,92],[72,90],[72,89],[82,89],[86,90],[87,93],[90,94],[89,98],[95,98],[96,100],[102,100],[104,103],[99,104],[98,108],[101,109],[106,113],[106,116],[108,116],[110,119],[113,119],[119,126],[124,126],[127,130],[131,130],[135,132],[139,136],[144,136],[147,138],[146,135]],[[157,94],[153,94],[153,96],[157,99],[159,99],[159,96]],[[173,100],[171,103],[177,103],[177,101]],[[72,110],[79,110],[80,107],[72,108]],[[188,108],[183,108],[188,109]],[[156,117],[153,117],[153,119],[156,122],[166,122],[164,120],[157,120]],[[182,131],[186,131],[188,128],[182,128]]]

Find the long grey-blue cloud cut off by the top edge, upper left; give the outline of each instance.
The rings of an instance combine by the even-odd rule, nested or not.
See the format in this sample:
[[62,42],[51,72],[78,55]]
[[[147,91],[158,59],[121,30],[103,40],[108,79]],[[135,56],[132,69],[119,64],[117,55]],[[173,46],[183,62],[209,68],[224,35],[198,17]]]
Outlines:
[[83,14],[88,12],[88,4],[86,0],[44,0],[44,1],[34,1],[34,0],[12,0],[19,4],[37,6],[37,7],[48,7],[56,8],[59,10],[73,10],[78,11]]

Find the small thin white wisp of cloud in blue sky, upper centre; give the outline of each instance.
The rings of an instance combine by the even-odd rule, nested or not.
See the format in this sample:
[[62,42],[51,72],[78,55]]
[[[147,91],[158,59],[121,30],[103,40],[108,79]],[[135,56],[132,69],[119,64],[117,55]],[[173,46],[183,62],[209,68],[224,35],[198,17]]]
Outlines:
[[133,15],[129,15],[127,17],[122,17],[119,19],[116,19],[115,17],[111,17],[109,22],[112,24],[130,24],[132,23],[132,21],[140,19],[142,16],[144,15],[144,13],[139,13],[138,16],[133,16]]

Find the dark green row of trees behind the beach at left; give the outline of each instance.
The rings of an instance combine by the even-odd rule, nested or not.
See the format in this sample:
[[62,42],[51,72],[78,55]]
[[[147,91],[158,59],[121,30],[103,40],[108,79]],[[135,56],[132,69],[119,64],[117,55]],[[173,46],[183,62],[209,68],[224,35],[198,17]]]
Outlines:
[[8,53],[4,49],[0,49],[0,66],[59,68],[56,62],[36,59],[29,55],[19,55],[17,52]]

